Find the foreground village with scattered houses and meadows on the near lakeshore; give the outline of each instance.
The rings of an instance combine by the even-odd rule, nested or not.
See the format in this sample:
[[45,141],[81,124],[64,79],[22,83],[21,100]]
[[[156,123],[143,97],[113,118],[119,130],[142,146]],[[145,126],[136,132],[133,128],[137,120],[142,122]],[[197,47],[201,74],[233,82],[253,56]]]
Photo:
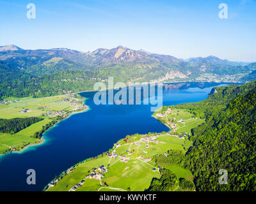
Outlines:
[[[63,189],[63,183],[66,186],[65,191],[88,191],[89,189],[90,191],[102,191],[101,189],[129,191],[129,186],[124,188],[122,187],[125,186],[124,184],[116,183],[115,180],[138,175],[140,178],[144,177],[143,175],[159,177],[163,166],[156,166],[154,155],[162,154],[164,157],[169,157],[169,150],[177,148],[178,144],[180,150],[185,150],[185,147],[188,149],[189,142],[186,140],[188,135],[188,133],[172,133],[172,130],[145,135],[127,135],[116,142],[108,152],[81,163],[83,168],[77,169],[77,166],[73,166],[65,171],[58,179],[48,184],[45,191]],[[72,173],[71,177],[79,175],[81,179],[77,179],[76,183],[68,179],[70,176],[63,180],[62,178],[66,178],[69,173]]]

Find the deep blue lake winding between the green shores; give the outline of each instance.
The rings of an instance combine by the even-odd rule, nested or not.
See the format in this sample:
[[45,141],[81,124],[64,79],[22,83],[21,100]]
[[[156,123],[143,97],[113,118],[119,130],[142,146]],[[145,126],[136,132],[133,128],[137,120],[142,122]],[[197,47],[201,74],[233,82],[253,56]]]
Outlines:
[[[163,90],[163,105],[177,105],[207,98],[220,84],[187,84]],[[0,191],[42,191],[61,171],[97,156],[120,138],[134,133],[168,131],[151,115],[151,105],[95,105],[95,92],[83,92],[90,110],[77,113],[44,134],[45,142],[21,153],[0,156]],[[36,184],[28,185],[26,171],[36,171]]]

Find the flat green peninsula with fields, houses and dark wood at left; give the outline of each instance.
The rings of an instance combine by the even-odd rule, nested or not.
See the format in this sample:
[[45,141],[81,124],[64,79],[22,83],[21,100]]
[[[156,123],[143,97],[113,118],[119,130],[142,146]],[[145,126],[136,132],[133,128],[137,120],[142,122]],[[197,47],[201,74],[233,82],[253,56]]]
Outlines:
[[87,110],[78,94],[6,98],[0,102],[0,155],[43,142],[43,134],[72,113]]

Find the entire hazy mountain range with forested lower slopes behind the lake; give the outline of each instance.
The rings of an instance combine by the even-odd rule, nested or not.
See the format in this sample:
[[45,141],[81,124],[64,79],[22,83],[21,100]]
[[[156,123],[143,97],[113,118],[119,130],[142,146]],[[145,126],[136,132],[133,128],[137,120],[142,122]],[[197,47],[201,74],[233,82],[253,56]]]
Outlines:
[[125,83],[246,82],[256,77],[252,73],[255,70],[255,63],[214,56],[182,60],[122,46],[79,52],[68,48],[24,50],[7,45],[0,47],[0,98],[92,90],[95,82],[106,82],[108,77]]

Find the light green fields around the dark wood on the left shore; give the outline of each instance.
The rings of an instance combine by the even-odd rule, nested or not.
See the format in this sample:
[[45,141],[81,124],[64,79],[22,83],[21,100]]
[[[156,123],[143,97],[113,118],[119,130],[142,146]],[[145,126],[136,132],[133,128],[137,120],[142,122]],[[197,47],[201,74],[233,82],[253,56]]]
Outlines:
[[[67,98],[65,95],[51,96],[45,98],[7,98],[6,101],[11,102],[8,105],[0,105],[0,119],[24,118],[24,117],[42,117],[44,120],[32,124],[28,128],[22,129],[13,135],[8,133],[0,133],[0,155],[12,151],[22,150],[26,145],[42,142],[40,139],[32,138],[36,132],[42,130],[43,126],[49,124],[53,120],[52,117],[42,116],[48,111],[71,111],[74,106],[69,101],[62,101]],[[45,107],[47,108],[40,108]],[[20,112],[29,109],[30,112]]]

